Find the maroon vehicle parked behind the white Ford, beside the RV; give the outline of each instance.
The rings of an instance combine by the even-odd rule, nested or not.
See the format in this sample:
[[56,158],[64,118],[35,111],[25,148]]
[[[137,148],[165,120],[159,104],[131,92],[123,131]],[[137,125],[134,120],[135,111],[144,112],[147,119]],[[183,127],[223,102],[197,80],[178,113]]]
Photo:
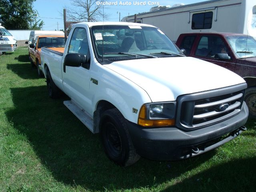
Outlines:
[[[249,116],[256,118],[256,40],[234,33],[180,34],[176,45],[186,56],[196,57],[240,75],[248,88],[244,100]],[[218,74],[216,74],[218,77]]]

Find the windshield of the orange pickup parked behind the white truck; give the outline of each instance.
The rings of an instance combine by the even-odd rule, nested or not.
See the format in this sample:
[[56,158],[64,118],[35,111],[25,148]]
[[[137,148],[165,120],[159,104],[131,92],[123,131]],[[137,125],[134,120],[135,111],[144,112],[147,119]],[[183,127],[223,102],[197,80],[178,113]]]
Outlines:
[[41,37],[38,40],[38,48],[42,47],[65,47],[64,37]]

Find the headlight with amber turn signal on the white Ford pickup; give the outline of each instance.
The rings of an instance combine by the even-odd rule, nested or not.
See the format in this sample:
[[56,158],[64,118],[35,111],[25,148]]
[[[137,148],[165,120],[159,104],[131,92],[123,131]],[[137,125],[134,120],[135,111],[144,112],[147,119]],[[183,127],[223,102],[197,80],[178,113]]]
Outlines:
[[138,124],[144,127],[172,126],[175,115],[176,102],[148,103],[140,108]]

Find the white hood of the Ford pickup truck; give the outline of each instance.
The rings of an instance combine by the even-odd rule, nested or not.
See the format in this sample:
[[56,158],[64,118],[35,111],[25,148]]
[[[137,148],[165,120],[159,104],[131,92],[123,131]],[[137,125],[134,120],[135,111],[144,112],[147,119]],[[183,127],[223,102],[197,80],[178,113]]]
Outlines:
[[192,57],[135,59],[104,66],[140,86],[152,102],[245,82],[230,70]]

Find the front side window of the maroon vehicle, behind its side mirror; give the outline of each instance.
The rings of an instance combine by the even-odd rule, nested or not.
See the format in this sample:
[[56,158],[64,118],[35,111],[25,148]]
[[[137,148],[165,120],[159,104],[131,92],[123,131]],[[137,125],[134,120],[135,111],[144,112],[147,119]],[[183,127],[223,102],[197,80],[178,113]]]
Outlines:
[[217,53],[228,53],[228,48],[219,36],[202,36],[196,49],[196,56],[214,58]]

